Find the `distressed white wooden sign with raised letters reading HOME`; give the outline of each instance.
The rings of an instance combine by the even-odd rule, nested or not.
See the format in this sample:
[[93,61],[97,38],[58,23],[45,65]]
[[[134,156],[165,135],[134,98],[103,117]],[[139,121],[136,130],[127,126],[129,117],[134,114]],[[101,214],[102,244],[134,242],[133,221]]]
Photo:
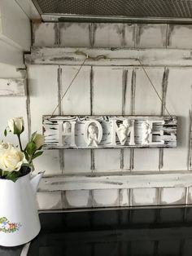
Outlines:
[[43,116],[45,148],[174,148],[177,117]]

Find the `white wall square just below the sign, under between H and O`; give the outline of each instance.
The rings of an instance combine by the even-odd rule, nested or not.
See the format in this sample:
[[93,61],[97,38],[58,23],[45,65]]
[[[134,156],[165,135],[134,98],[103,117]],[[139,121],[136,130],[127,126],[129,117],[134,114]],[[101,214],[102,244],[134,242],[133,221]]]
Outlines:
[[64,150],[64,173],[85,173],[91,172],[90,166],[90,151],[89,149],[84,150],[74,150],[68,149]]

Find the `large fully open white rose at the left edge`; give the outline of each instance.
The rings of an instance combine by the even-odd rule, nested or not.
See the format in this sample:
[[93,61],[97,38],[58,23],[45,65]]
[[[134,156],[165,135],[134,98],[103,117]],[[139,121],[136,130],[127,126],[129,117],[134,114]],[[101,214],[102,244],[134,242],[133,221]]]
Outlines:
[[0,169],[12,171],[20,170],[25,158],[24,153],[17,148],[8,148],[0,150]]

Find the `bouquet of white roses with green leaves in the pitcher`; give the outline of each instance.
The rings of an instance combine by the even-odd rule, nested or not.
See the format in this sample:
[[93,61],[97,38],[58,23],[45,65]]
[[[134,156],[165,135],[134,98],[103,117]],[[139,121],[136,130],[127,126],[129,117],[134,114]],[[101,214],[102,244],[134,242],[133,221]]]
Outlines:
[[41,156],[41,148],[44,143],[44,136],[34,132],[31,135],[25,148],[23,148],[20,135],[24,132],[24,120],[22,117],[11,118],[7,130],[16,135],[19,140],[19,147],[11,143],[0,143],[0,179],[11,179],[15,182],[18,178],[34,170],[33,159]]

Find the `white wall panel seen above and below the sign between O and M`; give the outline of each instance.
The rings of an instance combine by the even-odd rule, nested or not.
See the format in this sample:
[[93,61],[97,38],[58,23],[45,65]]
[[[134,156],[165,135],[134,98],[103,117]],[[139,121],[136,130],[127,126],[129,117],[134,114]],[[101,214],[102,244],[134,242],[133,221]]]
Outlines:
[[[94,68],[93,114],[122,112],[123,70],[111,67]],[[120,150],[98,149],[94,152],[95,170],[119,170]]]

